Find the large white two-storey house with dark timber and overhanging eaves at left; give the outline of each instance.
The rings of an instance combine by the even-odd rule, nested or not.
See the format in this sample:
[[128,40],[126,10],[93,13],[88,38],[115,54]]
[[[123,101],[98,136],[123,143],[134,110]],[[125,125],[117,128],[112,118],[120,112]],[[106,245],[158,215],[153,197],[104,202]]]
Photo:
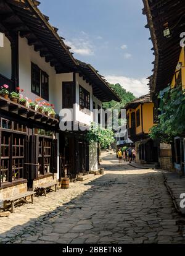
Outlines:
[[[119,101],[118,96],[92,66],[73,58],[38,5],[1,1],[0,86],[9,85],[10,92],[20,87],[30,100],[54,104],[57,114],[75,106],[73,126],[98,122],[93,109],[101,108],[103,101]],[[0,119],[2,198],[99,168],[97,145],[89,147],[84,132],[61,131],[57,118],[1,95]]]

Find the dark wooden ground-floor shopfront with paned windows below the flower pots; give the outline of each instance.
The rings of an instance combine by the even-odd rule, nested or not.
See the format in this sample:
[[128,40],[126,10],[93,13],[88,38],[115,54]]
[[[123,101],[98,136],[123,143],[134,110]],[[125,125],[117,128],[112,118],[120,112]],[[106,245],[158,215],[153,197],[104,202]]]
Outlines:
[[0,96],[0,189],[57,173],[57,119]]

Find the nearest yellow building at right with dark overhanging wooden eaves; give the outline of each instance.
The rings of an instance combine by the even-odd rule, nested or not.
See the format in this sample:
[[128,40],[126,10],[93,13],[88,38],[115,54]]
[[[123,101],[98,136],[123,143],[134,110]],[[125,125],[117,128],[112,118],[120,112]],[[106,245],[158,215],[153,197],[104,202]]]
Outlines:
[[[185,90],[184,48],[184,0],[143,0],[143,14],[147,17],[146,28],[150,30],[155,60],[153,74],[149,77],[150,96],[159,108],[158,95],[163,96],[170,88]],[[160,113],[158,113],[160,114]],[[182,120],[182,124],[184,119]],[[175,137],[175,142],[160,145],[160,167],[185,174],[185,130]]]

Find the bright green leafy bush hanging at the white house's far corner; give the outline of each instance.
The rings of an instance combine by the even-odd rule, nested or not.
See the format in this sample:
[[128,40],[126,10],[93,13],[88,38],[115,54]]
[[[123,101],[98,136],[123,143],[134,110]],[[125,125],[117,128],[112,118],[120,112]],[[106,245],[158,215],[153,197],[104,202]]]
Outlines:
[[101,148],[107,148],[115,141],[112,130],[104,129],[94,123],[91,124],[91,129],[88,130],[86,139],[89,143],[99,143]]

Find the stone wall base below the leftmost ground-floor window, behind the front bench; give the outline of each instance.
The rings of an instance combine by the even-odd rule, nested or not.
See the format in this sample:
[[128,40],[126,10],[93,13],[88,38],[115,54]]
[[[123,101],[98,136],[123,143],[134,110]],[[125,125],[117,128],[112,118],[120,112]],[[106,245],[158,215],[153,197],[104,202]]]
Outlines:
[[6,187],[5,189],[0,190],[0,207],[2,207],[3,203],[1,200],[6,198],[14,197],[16,195],[26,193],[27,192],[27,182],[18,184],[11,187]]

